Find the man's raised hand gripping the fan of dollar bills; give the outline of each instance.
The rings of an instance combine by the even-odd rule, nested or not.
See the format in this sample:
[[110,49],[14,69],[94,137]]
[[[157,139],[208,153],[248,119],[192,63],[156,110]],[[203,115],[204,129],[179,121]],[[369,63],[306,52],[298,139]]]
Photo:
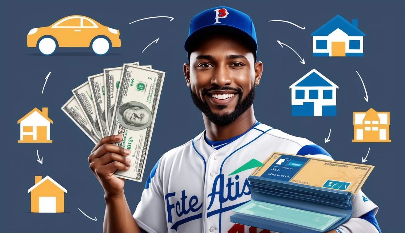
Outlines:
[[126,158],[130,155],[130,150],[111,144],[121,140],[121,135],[111,135],[101,139],[88,158],[90,169],[104,188],[105,195],[111,197],[122,193],[125,182],[125,179],[115,176],[114,172],[127,171],[131,162]]

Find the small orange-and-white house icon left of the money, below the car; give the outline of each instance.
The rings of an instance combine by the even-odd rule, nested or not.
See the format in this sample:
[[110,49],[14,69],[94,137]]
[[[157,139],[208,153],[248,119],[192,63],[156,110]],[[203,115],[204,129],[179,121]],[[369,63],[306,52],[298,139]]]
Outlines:
[[48,108],[34,108],[17,121],[20,124],[20,140],[18,143],[45,142],[49,140],[49,128],[53,121],[48,117]]

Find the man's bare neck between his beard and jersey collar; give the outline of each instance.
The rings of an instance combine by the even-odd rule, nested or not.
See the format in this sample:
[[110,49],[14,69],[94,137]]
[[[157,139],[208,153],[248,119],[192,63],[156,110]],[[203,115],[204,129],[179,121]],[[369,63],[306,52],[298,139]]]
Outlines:
[[206,129],[205,136],[211,141],[222,141],[241,135],[257,122],[254,117],[253,105],[229,125],[215,125],[204,114],[203,119]]

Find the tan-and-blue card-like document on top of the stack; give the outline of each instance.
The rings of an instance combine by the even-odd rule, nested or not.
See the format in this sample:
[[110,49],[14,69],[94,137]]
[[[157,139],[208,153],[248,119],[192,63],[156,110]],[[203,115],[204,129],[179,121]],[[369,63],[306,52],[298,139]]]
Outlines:
[[373,165],[311,158],[275,152],[252,176],[319,188],[358,193]]

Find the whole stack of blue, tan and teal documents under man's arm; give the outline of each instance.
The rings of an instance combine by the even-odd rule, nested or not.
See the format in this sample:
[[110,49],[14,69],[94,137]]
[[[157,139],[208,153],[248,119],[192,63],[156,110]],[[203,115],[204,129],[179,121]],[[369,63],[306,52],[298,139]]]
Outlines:
[[319,233],[352,216],[356,194],[372,165],[273,153],[248,180],[252,200],[231,222],[281,233]]

